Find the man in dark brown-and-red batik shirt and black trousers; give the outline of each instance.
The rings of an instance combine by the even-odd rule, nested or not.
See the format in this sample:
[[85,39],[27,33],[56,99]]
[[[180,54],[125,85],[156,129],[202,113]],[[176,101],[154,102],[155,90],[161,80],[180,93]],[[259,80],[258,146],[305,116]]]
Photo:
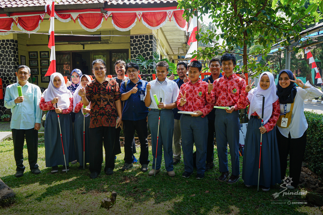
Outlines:
[[104,171],[107,175],[113,174],[116,128],[121,124],[122,114],[119,85],[105,75],[105,62],[96,59],[92,62],[92,68],[95,79],[90,81],[85,89],[80,89],[78,95],[82,97],[85,106],[91,102],[89,170],[90,178],[95,179],[102,167],[102,142],[105,149]]

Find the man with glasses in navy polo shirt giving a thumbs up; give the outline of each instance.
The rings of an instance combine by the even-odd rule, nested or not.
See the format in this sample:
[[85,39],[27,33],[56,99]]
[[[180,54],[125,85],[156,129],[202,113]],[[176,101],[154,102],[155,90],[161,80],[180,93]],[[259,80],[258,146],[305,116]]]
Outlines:
[[122,121],[124,129],[124,165],[122,171],[129,170],[132,167],[132,140],[134,133],[137,131],[140,141],[140,158],[141,171],[148,171],[148,128],[147,128],[147,114],[148,107],[146,107],[143,100],[147,81],[140,80],[138,75],[140,73],[139,66],[135,63],[126,64],[126,72],[129,80],[127,84],[125,81],[121,83],[120,93],[121,101],[124,102],[122,112]]

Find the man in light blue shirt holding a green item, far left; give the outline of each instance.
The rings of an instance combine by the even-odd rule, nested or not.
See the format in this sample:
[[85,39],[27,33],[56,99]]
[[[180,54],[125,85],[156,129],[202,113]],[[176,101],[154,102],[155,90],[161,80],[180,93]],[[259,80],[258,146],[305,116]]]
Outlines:
[[[24,175],[23,147],[26,136],[28,161],[30,170],[35,175],[40,173],[37,165],[38,158],[38,130],[42,110],[39,108],[41,98],[40,88],[28,82],[30,69],[28,66],[18,66],[16,76],[18,83],[10,84],[5,90],[5,107],[11,109],[12,139],[14,142],[14,156],[16,160],[16,177]],[[22,96],[18,95],[17,86],[22,87]]]

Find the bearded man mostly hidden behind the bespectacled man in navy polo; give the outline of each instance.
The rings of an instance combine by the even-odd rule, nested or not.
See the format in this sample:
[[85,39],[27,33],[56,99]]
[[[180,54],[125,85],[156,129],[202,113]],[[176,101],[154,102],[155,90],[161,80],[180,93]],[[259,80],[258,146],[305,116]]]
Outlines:
[[[116,63],[114,63],[114,70],[117,74],[117,77],[114,77],[113,79],[119,84],[119,89],[121,89],[121,83],[123,81],[128,81],[128,78],[125,77],[125,72],[126,72],[126,62],[124,62],[123,60],[118,60],[116,61]],[[126,84],[127,86],[127,84]],[[124,102],[121,100],[121,111],[123,112],[123,107],[124,107]],[[117,128],[116,130],[116,140],[115,140],[115,147],[117,147],[117,150],[115,150],[116,155],[121,153],[121,148],[120,148],[120,132],[121,129],[123,127],[123,123],[121,124],[120,127]],[[118,146],[119,144],[119,146]],[[135,139],[133,138],[132,140],[132,158],[133,161],[132,163],[137,163],[137,159],[136,157],[133,155],[134,153],[136,153],[136,144],[135,144]],[[115,157],[116,159],[117,157]]]

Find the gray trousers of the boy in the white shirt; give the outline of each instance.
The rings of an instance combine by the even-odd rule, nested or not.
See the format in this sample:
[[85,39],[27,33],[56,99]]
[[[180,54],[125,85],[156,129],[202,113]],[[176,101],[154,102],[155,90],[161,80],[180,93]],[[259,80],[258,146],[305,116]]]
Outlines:
[[[148,113],[148,126],[151,132],[152,169],[155,169],[157,130],[159,110],[151,109]],[[174,113],[172,109],[161,109],[159,125],[156,170],[161,168],[161,157],[164,149],[166,171],[173,171],[172,139],[174,132]]]

